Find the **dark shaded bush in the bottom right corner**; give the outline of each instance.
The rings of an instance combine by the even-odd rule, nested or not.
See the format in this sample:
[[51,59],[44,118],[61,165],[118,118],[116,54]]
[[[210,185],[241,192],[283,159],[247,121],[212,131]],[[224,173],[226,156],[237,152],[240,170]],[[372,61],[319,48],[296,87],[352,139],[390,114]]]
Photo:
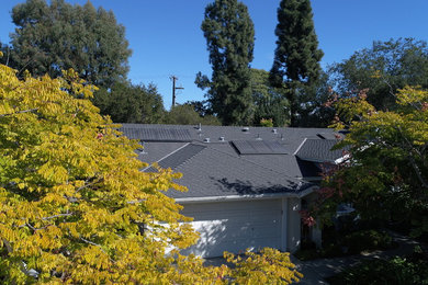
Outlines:
[[403,258],[365,261],[327,278],[331,285],[338,284],[428,284],[428,262],[409,261]]

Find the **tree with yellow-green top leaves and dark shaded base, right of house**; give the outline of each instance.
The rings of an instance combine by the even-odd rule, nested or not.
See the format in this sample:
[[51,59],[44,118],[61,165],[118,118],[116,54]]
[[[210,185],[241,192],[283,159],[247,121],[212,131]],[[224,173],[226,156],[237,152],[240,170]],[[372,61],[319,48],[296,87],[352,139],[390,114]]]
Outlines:
[[428,91],[398,90],[394,111],[376,111],[367,94],[341,99],[336,127],[349,134],[348,158],[327,173],[320,190],[320,217],[350,203],[362,220],[412,225],[428,232]]

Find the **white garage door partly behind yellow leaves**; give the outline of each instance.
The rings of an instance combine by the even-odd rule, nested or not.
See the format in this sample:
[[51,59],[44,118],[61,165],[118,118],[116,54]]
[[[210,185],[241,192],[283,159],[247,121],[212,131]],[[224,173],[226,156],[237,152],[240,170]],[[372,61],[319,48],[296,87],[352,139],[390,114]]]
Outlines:
[[247,248],[281,247],[281,200],[201,203],[183,205],[200,232],[198,243],[183,253],[203,258],[222,256],[224,251],[241,253]]

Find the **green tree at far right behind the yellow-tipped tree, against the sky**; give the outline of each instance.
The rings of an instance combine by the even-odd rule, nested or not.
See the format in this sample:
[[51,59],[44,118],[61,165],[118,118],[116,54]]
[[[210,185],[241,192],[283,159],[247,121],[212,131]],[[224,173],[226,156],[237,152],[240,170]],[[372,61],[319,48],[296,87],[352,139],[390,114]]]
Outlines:
[[368,101],[379,110],[395,106],[395,93],[405,86],[428,88],[428,47],[414,38],[373,42],[330,67],[340,94],[367,89]]

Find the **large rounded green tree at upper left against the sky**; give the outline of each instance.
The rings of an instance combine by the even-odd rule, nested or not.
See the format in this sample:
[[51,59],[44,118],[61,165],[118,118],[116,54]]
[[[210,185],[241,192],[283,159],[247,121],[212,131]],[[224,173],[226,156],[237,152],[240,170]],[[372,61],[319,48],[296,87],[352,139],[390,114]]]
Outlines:
[[72,68],[80,78],[105,88],[126,78],[131,49],[112,11],[95,10],[90,1],[81,7],[27,0],[12,9],[12,67],[18,70],[55,78]]

